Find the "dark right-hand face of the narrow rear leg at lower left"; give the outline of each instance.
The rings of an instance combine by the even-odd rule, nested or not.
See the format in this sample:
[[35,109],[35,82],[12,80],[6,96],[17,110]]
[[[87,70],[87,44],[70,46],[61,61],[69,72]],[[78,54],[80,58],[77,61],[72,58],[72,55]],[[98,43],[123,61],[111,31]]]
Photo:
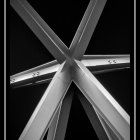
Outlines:
[[59,121],[57,124],[55,137],[53,140],[65,139],[67,124],[68,124],[68,119],[69,119],[69,114],[70,114],[70,109],[71,109],[71,104],[72,104],[72,98],[73,98],[73,90],[70,89],[68,90],[67,95],[65,96],[62,102]]

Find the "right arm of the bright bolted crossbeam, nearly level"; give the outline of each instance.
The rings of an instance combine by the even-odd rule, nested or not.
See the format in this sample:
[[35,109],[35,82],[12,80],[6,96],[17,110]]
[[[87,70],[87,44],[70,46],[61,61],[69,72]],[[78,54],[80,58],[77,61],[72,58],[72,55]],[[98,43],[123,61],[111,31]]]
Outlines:
[[81,62],[93,74],[130,67],[130,55],[84,55]]

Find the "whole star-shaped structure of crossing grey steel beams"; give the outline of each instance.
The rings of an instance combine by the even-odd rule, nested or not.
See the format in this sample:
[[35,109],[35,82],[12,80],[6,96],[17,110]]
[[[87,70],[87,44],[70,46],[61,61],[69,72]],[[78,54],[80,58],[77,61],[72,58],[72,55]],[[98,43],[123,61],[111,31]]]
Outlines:
[[[93,111],[87,113],[91,106],[81,101],[96,132],[99,130],[99,133],[104,134],[105,140],[107,138],[112,140],[113,136],[108,136],[112,133],[118,136],[115,139],[130,139],[129,115],[94,76],[96,73],[129,68],[130,55],[84,55],[106,2],[107,0],[90,0],[72,43],[67,48],[26,0],[10,0],[14,10],[56,59],[10,76],[11,87],[50,81],[19,140],[43,139],[47,129],[49,129],[47,140],[57,140],[59,137],[64,139],[64,135],[58,134],[58,131],[62,126],[66,129],[66,124],[59,120],[63,117],[64,122],[68,121],[68,116],[64,116],[67,109],[63,104],[70,109],[72,98],[65,101],[63,99],[72,81],[93,107]],[[94,116],[94,120],[90,115]],[[95,120],[98,123],[94,125]],[[99,133],[98,137],[102,140]]]

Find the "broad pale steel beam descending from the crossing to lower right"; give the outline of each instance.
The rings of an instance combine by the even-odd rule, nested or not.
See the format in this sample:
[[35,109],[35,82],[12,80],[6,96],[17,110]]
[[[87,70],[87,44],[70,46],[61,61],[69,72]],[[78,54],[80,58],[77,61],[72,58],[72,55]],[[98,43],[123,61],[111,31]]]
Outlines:
[[[75,60],[74,82],[103,119],[122,139],[130,139],[130,117],[102,84],[79,61]],[[75,64],[75,65],[76,65]]]

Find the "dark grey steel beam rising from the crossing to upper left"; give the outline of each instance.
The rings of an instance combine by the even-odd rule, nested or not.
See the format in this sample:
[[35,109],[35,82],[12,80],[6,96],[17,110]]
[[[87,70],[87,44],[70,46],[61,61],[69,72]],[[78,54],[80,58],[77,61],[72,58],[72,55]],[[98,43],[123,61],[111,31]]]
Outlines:
[[69,50],[32,6],[26,0],[10,0],[10,4],[54,58],[62,63]]

